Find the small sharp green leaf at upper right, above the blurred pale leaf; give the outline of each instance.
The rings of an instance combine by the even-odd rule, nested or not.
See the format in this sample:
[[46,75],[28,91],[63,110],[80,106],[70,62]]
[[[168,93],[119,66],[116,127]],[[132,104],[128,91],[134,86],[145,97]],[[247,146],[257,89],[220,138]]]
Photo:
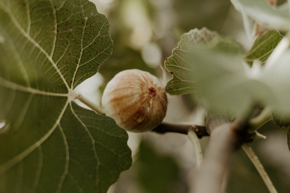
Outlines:
[[254,60],[260,60],[262,63],[265,62],[282,38],[283,36],[277,30],[267,30],[256,39],[246,55],[246,61],[250,66],[253,65]]

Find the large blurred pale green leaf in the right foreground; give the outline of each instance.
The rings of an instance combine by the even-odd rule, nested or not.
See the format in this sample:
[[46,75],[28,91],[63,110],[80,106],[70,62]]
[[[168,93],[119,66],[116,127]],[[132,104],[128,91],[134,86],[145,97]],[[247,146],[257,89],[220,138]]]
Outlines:
[[194,49],[198,92],[218,112],[233,115],[253,105],[269,105],[274,112],[290,115],[290,50],[270,66],[256,63],[249,68],[239,54]]

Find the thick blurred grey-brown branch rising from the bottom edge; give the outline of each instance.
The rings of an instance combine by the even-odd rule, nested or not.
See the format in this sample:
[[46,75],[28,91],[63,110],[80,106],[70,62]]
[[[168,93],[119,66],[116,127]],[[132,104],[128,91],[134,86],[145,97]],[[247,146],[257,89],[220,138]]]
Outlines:
[[[247,122],[248,120],[245,120]],[[226,180],[231,155],[247,138],[244,122],[229,122],[227,117],[213,115],[206,122],[210,141],[204,153],[203,163],[195,177],[192,192],[220,193]]]

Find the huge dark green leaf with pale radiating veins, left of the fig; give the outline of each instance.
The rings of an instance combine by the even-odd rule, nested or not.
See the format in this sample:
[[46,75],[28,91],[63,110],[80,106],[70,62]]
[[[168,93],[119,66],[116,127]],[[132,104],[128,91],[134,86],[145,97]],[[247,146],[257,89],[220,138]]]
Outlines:
[[106,192],[131,166],[126,131],[73,89],[112,53],[88,1],[0,1],[0,192]]

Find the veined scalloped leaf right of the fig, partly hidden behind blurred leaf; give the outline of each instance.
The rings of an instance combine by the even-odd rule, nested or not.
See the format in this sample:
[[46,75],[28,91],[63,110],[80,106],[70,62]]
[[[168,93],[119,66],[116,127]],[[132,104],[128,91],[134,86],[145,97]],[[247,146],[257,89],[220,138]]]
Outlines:
[[177,48],[173,49],[172,55],[165,60],[165,68],[172,74],[173,78],[166,84],[166,91],[170,94],[187,94],[196,90],[195,65],[202,65],[192,58],[192,49],[214,47],[226,49],[230,52],[241,53],[241,47],[231,40],[223,41],[217,33],[205,27],[193,29],[184,33]]

